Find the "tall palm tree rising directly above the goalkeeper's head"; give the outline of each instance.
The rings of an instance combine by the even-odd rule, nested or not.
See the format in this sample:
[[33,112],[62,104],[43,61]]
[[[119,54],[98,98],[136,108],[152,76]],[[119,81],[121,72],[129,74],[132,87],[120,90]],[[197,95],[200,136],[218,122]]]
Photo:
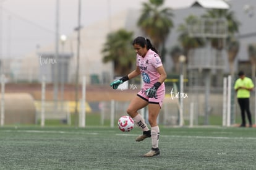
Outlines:
[[173,28],[173,13],[169,7],[161,7],[164,0],[149,0],[143,3],[142,14],[137,24],[149,38],[153,41],[156,49],[161,46],[161,56],[164,62],[164,43]]

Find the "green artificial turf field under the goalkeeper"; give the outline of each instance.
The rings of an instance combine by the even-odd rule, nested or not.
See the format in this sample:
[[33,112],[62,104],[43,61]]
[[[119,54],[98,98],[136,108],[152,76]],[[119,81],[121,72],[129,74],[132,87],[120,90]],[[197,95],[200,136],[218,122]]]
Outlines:
[[254,128],[160,127],[160,155],[136,127],[0,127],[0,169],[255,169]]

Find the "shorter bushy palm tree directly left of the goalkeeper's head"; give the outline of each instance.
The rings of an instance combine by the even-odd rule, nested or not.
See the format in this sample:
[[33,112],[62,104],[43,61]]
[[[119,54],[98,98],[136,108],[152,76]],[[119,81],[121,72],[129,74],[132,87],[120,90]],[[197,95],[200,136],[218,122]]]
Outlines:
[[133,32],[124,29],[109,33],[103,46],[103,62],[114,62],[114,74],[126,75],[132,69],[136,59],[132,48]]

